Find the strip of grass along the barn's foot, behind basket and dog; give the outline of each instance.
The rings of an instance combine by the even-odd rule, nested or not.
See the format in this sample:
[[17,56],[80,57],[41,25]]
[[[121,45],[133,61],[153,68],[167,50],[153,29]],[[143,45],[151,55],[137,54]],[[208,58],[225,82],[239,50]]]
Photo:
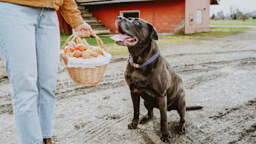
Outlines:
[[[238,33],[245,33],[246,31],[251,30],[249,27],[210,27],[208,33],[193,33],[182,36],[159,36],[159,41],[157,41],[159,47],[164,45],[185,45],[190,42],[199,42],[201,40],[211,40],[217,37],[230,36]],[[61,46],[65,43],[65,40],[68,39],[68,36],[61,36]],[[95,38],[85,38],[89,45],[97,45]],[[115,42],[110,39],[110,37],[102,37],[108,52],[112,55],[118,55],[121,53],[128,53],[127,47],[121,47],[116,45]]]

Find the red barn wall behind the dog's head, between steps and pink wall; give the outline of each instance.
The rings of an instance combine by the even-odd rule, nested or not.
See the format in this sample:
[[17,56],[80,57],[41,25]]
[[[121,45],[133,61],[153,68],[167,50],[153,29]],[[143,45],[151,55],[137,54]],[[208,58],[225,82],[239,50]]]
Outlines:
[[115,29],[115,19],[120,16],[121,10],[140,10],[140,18],[153,24],[159,33],[185,31],[185,0],[99,4],[86,8],[110,30],[110,33],[118,33]]

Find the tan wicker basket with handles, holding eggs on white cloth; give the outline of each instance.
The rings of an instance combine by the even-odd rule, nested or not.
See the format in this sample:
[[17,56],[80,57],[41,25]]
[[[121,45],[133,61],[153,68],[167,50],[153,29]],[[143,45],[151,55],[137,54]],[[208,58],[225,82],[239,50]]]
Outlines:
[[[79,35],[79,32],[69,36],[68,39],[65,41],[65,44],[63,45],[62,49],[65,48],[65,45],[67,45],[68,41],[71,38],[72,38],[71,42],[74,42],[74,39],[76,39],[78,35]],[[95,38],[97,40],[97,45],[100,46],[101,44],[101,46],[104,48],[104,51],[107,52],[106,47],[103,44],[100,37],[95,35]],[[67,52],[67,55],[68,55],[68,52]],[[61,53],[63,61],[65,62],[65,65],[68,65],[67,55],[65,55],[64,53]],[[71,79],[74,80],[74,82],[77,82],[78,84],[84,85],[84,86],[94,86],[100,83],[101,79],[103,78],[103,74],[106,70],[106,65],[97,66],[95,68],[68,68],[67,67],[67,69],[68,69],[69,76],[71,77]]]

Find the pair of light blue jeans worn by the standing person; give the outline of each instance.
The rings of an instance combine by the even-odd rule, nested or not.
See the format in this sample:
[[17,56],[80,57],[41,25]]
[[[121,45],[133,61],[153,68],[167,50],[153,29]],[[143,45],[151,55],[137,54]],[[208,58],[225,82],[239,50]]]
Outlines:
[[53,135],[59,54],[55,10],[0,1],[0,56],[22,143],[42,143]]

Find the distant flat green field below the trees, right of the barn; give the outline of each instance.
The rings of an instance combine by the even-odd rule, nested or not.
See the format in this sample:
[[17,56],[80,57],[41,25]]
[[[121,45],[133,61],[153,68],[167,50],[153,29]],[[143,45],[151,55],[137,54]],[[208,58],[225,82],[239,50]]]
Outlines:
[[256,26],[256,19],[246,20],[211,20],[210,25],[241,25],[241,26]]

